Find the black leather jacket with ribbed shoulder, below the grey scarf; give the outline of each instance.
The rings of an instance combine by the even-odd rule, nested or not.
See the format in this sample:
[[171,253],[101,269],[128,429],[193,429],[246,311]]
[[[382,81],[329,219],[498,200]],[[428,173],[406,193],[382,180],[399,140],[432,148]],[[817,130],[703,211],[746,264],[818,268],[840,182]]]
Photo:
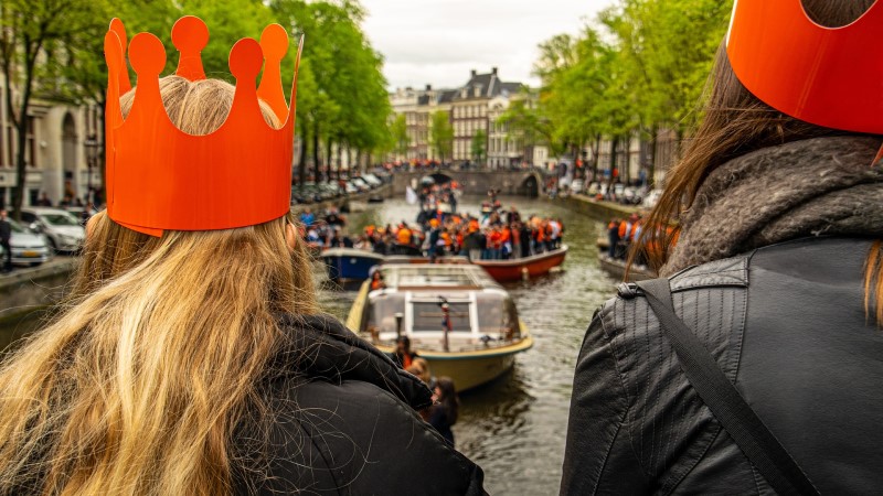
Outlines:
[[[821,494],[883,494],[883,333],[870,241],[812,238],[685,269],[678,314]],[[562,494],[774,494],[691,388],[647,301],[620,289],[576,367]]]

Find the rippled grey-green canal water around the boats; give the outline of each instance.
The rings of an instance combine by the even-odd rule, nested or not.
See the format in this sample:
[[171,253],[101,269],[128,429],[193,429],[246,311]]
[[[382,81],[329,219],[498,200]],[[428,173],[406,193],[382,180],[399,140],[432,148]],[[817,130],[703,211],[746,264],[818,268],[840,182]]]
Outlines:
[[[481,200],[464,198],[458,209],[478,214]],[[617,281],[598,267],[597,220],[536,200],[502,202],[522,215],[561,217],[570,251],[561,271],[506,284],[534,346],[517,357],[510,374],[460,397],[454,433],[457,449],[485,470],[490,494],[557,494],[576,355],[592,314],[613,295]],[[416,214],[415,206],[387,200],[350,214],[348,227],[354,231],[369,224],[412,223]],[[325,309],[340,319],[354,298],[354,291],[321,292]]]

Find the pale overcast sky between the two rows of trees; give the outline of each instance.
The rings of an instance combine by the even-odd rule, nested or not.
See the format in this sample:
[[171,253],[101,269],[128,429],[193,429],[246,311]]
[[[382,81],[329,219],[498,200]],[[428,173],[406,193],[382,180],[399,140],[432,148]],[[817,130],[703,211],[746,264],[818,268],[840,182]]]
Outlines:
[[536,45],[576,34],[614,0],[362,0],[363,29],[383,54],[390,89],[455,88],[469,71],[498,67],[504,82],[536,86]]

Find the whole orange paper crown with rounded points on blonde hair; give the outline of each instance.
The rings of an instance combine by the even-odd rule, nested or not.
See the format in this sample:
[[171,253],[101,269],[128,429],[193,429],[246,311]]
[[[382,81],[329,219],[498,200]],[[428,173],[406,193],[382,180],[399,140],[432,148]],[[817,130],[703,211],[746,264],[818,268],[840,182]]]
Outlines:
[[[209,30],[199,18],[184,17],[172,28],[180,52],[175,74],[204,79],[200,52]],[[107,78],[107,213],[139,233],[159,236],[164,229],[212,230],[252,226],[289,212],[291,155],[295,136],[298,46],[290,107],[285,103],[279,64],[288,51],[288,35],[268,25],[260,43],[236,42],[230,71],[236,78],[233,105],[213,133],[192,136],[178,129],[166,112],[159,75],[166,50],[150,33],[129,43],[129,62],[138,86],[124,120],[119,97],[131,88],[126,66],[126,29],[118,19],[105,35]],[[255,79],[264,66],[260,87]],[[258,98],[283,122],[274,129],[264,120]]]

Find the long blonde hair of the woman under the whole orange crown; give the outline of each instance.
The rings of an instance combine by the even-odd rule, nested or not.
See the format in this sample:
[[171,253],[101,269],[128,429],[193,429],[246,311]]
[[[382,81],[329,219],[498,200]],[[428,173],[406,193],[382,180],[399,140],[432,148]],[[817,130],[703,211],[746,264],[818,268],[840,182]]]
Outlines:
[[[161,93],[190,133],[219,128],[233,98],[175,76]],[[0,368],[0,494],[230,493],[278,317],[318,312],[287,222],[155,238],[98,214],[64,309]]]

